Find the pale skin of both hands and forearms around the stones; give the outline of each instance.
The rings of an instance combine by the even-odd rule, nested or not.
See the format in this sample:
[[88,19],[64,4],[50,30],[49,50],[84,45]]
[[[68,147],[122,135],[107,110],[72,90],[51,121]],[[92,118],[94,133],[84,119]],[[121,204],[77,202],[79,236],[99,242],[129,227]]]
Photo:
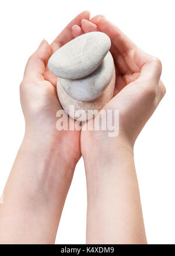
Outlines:
[[[108,131],[56,129],[61,106],[48,58],[69,40],[91,31],[108,34],[112,43],[117,77],[114,98],[104,109],[120,111],[120,133],[115,138],[108,137]],[[86,243],[146,243],[133,148],[165,94],[161,71],[159,59],[138,49],[100,15],[90,19],[87,11],[53,43],[41,42],[27,62],[20,85],[26,132],[3,192],[0,243],[54,243],[81,154],[88,189]]]

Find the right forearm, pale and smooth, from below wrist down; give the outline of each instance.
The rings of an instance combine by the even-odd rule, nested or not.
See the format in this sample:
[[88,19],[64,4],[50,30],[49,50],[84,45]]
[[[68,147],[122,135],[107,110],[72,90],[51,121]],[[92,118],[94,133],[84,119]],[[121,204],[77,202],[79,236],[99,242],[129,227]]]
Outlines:
[[87,243],[146,243],[132,148],[118,144],[106,155],[99,151],[85,160]]

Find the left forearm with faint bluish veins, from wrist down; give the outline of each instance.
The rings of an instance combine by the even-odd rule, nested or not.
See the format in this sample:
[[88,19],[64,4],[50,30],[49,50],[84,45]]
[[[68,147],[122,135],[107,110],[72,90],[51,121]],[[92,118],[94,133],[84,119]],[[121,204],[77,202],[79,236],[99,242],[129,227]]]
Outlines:
[[68,164],[61,141],[41,137],[27,134],[17,153],[0,205],[0,243],[55,241],[76,163]]

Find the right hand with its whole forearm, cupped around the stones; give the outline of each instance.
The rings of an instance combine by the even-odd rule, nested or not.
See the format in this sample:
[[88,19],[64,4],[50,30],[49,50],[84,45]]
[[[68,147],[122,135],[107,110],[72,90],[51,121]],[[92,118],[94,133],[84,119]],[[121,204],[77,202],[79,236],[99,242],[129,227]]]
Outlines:
[[165,94],[160,81],[162,65],[99,16],[83,20],[72,34],[92,31],[106,33],[111,39],[116,82],[114,97],[104,110],[119,110],[120,127],[117,137],[108,137],[108,130],[81,132],[88,190],[86,240],[89,244],[145,244],[133,146]]

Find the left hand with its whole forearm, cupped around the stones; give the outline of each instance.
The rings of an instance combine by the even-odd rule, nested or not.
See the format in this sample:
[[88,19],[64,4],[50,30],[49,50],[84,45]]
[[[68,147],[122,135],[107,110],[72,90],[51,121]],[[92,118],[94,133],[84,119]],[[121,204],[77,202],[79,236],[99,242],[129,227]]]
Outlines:
[[[89,19],[82,12],[49,46],[43,40],[29,58],[20,85],[26,133],[3,191],[0,243],[54,243],[76,162],[81,156],[78,131],[56,129],[56,77],[47,68],[51,54],[72,40],[72,26]],[[74,122],[71,120],[71,122]]]

